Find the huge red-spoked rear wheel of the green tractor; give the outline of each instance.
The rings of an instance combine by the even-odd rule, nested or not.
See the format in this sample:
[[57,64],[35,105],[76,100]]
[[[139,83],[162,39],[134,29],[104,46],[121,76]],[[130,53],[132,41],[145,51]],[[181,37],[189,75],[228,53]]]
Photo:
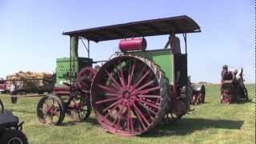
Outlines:
[[146,58],[119,56],[95,75],[91,104],[102,127],[114,134],[142,134],[161,122],[169,86],[158,66]]

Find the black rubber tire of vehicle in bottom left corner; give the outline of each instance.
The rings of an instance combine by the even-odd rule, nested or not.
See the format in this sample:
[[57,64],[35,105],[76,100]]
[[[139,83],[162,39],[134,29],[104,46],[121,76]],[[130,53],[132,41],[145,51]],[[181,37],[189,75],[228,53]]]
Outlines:
[[27,138],[26,135],[22,133],[22,131],[18,130],[10,130],[6,131],[4,134],[2,134],[2,137],[0,138],[0,143],[6,143],[6,144],[27,144]]

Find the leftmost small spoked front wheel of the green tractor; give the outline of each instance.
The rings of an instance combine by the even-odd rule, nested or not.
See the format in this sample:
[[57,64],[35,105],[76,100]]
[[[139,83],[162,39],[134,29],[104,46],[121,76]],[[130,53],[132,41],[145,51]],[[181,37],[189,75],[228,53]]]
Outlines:
[[64,102],[57,96],[47,95],[38,102],[37,114],[39,122],[59,125],[65,118]]

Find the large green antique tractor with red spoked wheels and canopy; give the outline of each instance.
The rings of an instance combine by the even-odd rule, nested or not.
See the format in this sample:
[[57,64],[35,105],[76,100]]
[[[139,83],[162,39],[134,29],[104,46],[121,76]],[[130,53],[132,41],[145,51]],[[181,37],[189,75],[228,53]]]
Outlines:
[[[70,58],[62,59],[62,64],[58,60],[54,95],[38,103],[38,118],[60,124],[74,111],[85,119],[92,106],[104,130],[125,136],[178,120],[190,110],[186,34],[196,32],[201,30],[193,19],[178,16],[63,33],[70,36]],[[184,38],[183,54],[176,34]],[[158,35],[169,35],[166,45],[146,50],[145,37]],[[90,58],[90,42],[116,39],[122,39],[120,51],[110,60],[98,61],[105,63],[94,70],[97,62]],[[86,47],[88,58],[78,57],[78,42]]]

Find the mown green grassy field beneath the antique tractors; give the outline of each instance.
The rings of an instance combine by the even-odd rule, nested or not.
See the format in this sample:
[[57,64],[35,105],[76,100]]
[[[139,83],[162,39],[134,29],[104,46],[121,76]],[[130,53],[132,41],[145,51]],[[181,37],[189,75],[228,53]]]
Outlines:
[[[206,103],[192,106],[190,114],[174,124],[160,125],[148,134],[133,138],[106,133],[94,114],[86,122],[70,122],[63,126],[38,123],[36,106],[39,98],[2,98],[7,110],[25,121],[24,132],[32,144],[77,143],[255,143],[255,90],[247,86],[252,102],[220,104],[219,86],[206,86]],[[1,98],[1,96],[0,96]]]

